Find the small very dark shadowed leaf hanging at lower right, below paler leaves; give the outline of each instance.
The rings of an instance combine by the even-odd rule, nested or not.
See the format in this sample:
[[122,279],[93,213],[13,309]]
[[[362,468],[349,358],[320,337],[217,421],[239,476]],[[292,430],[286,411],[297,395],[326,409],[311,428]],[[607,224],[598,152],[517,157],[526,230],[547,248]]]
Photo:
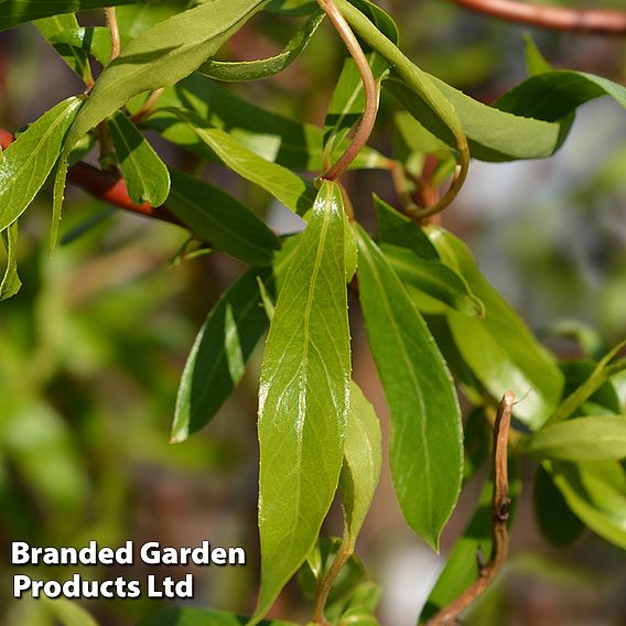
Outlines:
[[541,535],[552,546],[568,548],[584,532],[585,526],[571,511],[565,498],[541,466],[535,476],[532,503]]

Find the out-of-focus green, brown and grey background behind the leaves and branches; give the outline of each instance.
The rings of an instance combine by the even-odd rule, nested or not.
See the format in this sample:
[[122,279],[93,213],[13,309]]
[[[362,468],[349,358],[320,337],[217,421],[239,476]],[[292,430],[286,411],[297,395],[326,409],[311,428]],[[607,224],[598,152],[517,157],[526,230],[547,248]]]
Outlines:
[[[565,2],[561,2],[565,4]],[[620,1],[571,6],[624,8]],[[155,3],[158,4],[158,2]],[[401,24],[402,46],[424,69],[490,101],[525,77],[522,34],[530,32],[555,67],[626,82],[623,40],[555,34],[471,14],[445,0],[380,2]],[[1,8],[0,8],[1,10]],[[83,23],[102,23],[86,14]],[[274,54],[294,29],[288,18],[259,15],[223,51],[224,58]],[[322,123],[344,51],[323,24],[304,55],[283,74],[236,89],[287,116]],[[0,127],[15,130],[82,90],[79,82],[31,25],[0,33]],[[382,101],[373,144],[390,148]],[[186,156],[154,139],[164,160]],[[202,165],[204,166],[204,165]],[[299,219],[235,175],[206,175],[263,214],[280,231]],[[608,99],[580,110],[564,148],[549,161],[474,163],[466,187],[443,216],[482,269],[530,326],[564,358],[602,354],[626,336],[626,115]],[[395,203],[386,173],[345,176],[355,209],[373,225],[373,190]],[[122,214],[69,190],[64,244],[47,253],[50,190],[21,220],[21,292],[0,305],[0,623],[52,626],[41,603],[11,601],[11,540],[35,546],[242,546],[246,568],[196,569],[194,605],[241,613],[258,583],[256,528],[256,381],[258,349],[237,392],[202,433],[169,444],[177,381],[195,333],[242,266],[212,255],[176,262],[185,240],[176,227]],[[386,406],[354,321],[355,378],[384,423]],[[626,401],[626,380],[622,396]],[[540,536],[525,486],[505,574],[468,616],[479,625],[619,625],[626,623],[624,553],[585,533],[568,550]],[[384,471],[357,551],[382,586],[380,622],[414,624],[445,552],[462,531],[479,486],[463,494],[438,557],[413,536]],[[327,533],[341,531],[334,507]],[[33,570],[35,578],[69,575]],[[187,570],[161,573],[183,574]],[[89,576],[120,571],[90,569]],[[142,578],[145,570],[122,571]],[[155,601],[86,602],[102,626],[134,624]],[[277,613],[306,620],[292,585]]]

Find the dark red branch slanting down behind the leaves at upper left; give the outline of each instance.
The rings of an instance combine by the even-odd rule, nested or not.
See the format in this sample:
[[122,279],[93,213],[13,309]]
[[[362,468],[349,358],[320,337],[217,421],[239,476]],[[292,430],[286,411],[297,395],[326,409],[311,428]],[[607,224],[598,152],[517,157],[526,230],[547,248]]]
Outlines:
[[[9,148],[9,145],[13,142],[13,139],[14,138],[10,132],[0,129],[0,147],[2,150]],[[151,217],[153,219],[168,222],[186,228],[180,219],[170,213],[164,206],[154,207],[148,203],[133,203],[128,195],[128,190],[126,188],[123,179],[107,174],[93,165],[82,161],[72,165],[67,172],[67,180],[112,206],[122,208],[129,213],[134,213],[136,215]]]

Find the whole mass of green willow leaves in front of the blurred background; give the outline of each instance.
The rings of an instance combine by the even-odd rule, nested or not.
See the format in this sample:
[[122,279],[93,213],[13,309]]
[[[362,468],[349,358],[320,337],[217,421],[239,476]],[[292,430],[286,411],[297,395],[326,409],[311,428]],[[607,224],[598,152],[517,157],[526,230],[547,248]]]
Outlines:
[[[399,172],[401,197],[414,195],[428,154],[439,160],[432,182],[455,172],[454,187],[463,182],[470,158],[499,162],[551,155],[562,145],[576,107],[590,99],[608,95],[626,107],[624,87],[590,74],[551,71],[530,44],[531,76],[486,106],[409,61],[398,47],[396,24],[376,4],[335,4],[358,35],[393,109],[393,154],[365,148],[352,168]],[[74,14],[108,6],[119,6],[122,44],[110,62],[108,29],[83,28]],[[298,21],[295,35],[271,58],[213,61],[261,10],[305,20]],[[611,382],[626,366],[616,360],[618,349],[598,363],[559,365],[451,233],[419,225],[410,217],[410,204],[402,213],[374,197],[378,234],[373,237],[355,219],[338,183],[306,175],[343,152],[364,109],[352,58],[336,83],[324,128],[261,109],[222,85],[281,72],[304,51],[322,19],[317,4],[306,0],[2,2],[0,29],[34,20],[89,89],[56,105],[1,155],[2,298],[20,288],[20,216],[54,171],[54,246],[67,170],[98,140],[105,143],[104,136],[112,150],[102,165],[119,168],[134,203],[165,205],[195,238],[251,266],[224,292],[197,336],[173,425],[173,440],[182,442],[211,421],[269,328],[259,384],[261,584],[251,623],[260,623],[298,571],[316,618],[328,598],[326,616],[334,623],[375,623],[378,592],[353,552],[378,483],[381,438],[373,407],[352,380],[350,284],[358,288],[389,404],[396,494],[418,535],[439,548],[464,479],[484,460],[494,399],[512,390],[524,397],[515,409],[515,451],[541,463],[536,508],[546,535],[563,544],[586,526],[626,548],[626,474],[619,463],[626,456],[626,415]],[[96,79],[93,62],[102,65]],[[155,105],[145,108],[147,98],[152,104],[156,96]],[[278,237],[224,190],[170,171],[143,129],[263,188],[305,219],[304,231]],[[454,380],[475,406],[465,428],[465,465]],[[344,537],[319,543],[337,489]],[[555,503],[561,506],[558,520],[548,512]],[[424,617],[476,578],[474,553],[477,544],[489,544],[488,517],[485,497]],[[337,579],[345,563],[344,578]],[[240,622],[195,611],[142,622],[183,623]]]

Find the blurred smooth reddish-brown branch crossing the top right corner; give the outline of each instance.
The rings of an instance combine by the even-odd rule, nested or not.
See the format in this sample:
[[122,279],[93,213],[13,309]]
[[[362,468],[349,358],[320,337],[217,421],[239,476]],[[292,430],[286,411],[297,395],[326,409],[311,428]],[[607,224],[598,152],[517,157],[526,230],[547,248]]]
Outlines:
[[528,4],[516,0],[452,0],[478,13],[530,26],[597,35],[626,34],[626,11],[570,9]]

